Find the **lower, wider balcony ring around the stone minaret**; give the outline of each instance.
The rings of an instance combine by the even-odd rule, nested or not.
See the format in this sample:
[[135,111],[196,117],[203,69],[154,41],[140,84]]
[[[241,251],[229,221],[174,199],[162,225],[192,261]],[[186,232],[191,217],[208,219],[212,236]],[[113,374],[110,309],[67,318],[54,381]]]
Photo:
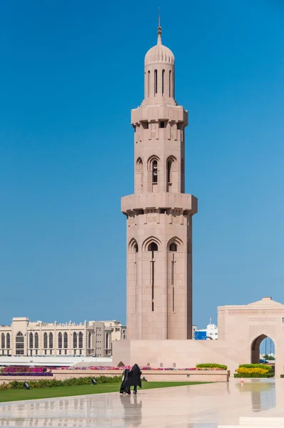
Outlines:
[[197,213],[197,198],[187,193],[135,193],[121,198],[121,212],[171,208]]

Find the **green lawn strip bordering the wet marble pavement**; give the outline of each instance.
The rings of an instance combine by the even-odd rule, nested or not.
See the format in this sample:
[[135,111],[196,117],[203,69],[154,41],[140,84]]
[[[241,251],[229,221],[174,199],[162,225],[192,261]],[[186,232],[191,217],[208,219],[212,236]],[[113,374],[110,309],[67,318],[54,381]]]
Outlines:
[[[143,382],[143,389],[183,387],[206,382]],[[22,399],[39,399],[52,397],[71,397],[72,395],[103,394],[119,392],[120,384],[74,385],[73,387],[53,387],[39,389],[7,389],[0,391],[0,402]],[[131,388],[132,390],[133,388]],[[139,388],[138,388],[139,394]]]

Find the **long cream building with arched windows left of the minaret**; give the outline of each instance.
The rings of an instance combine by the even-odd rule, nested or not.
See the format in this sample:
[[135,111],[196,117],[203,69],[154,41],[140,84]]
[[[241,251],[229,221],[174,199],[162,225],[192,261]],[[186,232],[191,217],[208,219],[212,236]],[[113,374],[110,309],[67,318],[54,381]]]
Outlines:
[[[113,321],[121,329],[119,321]],[[126,327],[123,326],[126,338]],[[81,355],[84,357],[105,357],[111,355],[112,337],[118,335],[111,331],[108,322],[89,321],[81,324],[68,322],[29,322],[29,318],[13,318],[11,325],[0,326],[0,355]]]

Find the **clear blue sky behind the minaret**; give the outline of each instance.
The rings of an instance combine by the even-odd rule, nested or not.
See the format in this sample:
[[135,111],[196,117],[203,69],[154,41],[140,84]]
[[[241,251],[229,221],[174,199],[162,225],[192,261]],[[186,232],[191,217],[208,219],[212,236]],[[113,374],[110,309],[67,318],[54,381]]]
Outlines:
[[[125,322],[130,110],[143,57],[176,56],[188,109],[193,319],[284,302],[284,7],[279,0],[11,0],[0,14],[1,317]],[[111,203],[110,203],[111,201]]]

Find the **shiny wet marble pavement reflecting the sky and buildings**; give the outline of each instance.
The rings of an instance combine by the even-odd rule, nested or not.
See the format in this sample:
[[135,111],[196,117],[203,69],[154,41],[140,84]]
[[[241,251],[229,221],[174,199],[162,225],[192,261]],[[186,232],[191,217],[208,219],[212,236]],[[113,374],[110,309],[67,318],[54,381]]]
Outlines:
[[[238,382],[237,382],[238,380]],[[0,427],[216,428],[283,417],[284,379],[201,384],[0,404]]]

